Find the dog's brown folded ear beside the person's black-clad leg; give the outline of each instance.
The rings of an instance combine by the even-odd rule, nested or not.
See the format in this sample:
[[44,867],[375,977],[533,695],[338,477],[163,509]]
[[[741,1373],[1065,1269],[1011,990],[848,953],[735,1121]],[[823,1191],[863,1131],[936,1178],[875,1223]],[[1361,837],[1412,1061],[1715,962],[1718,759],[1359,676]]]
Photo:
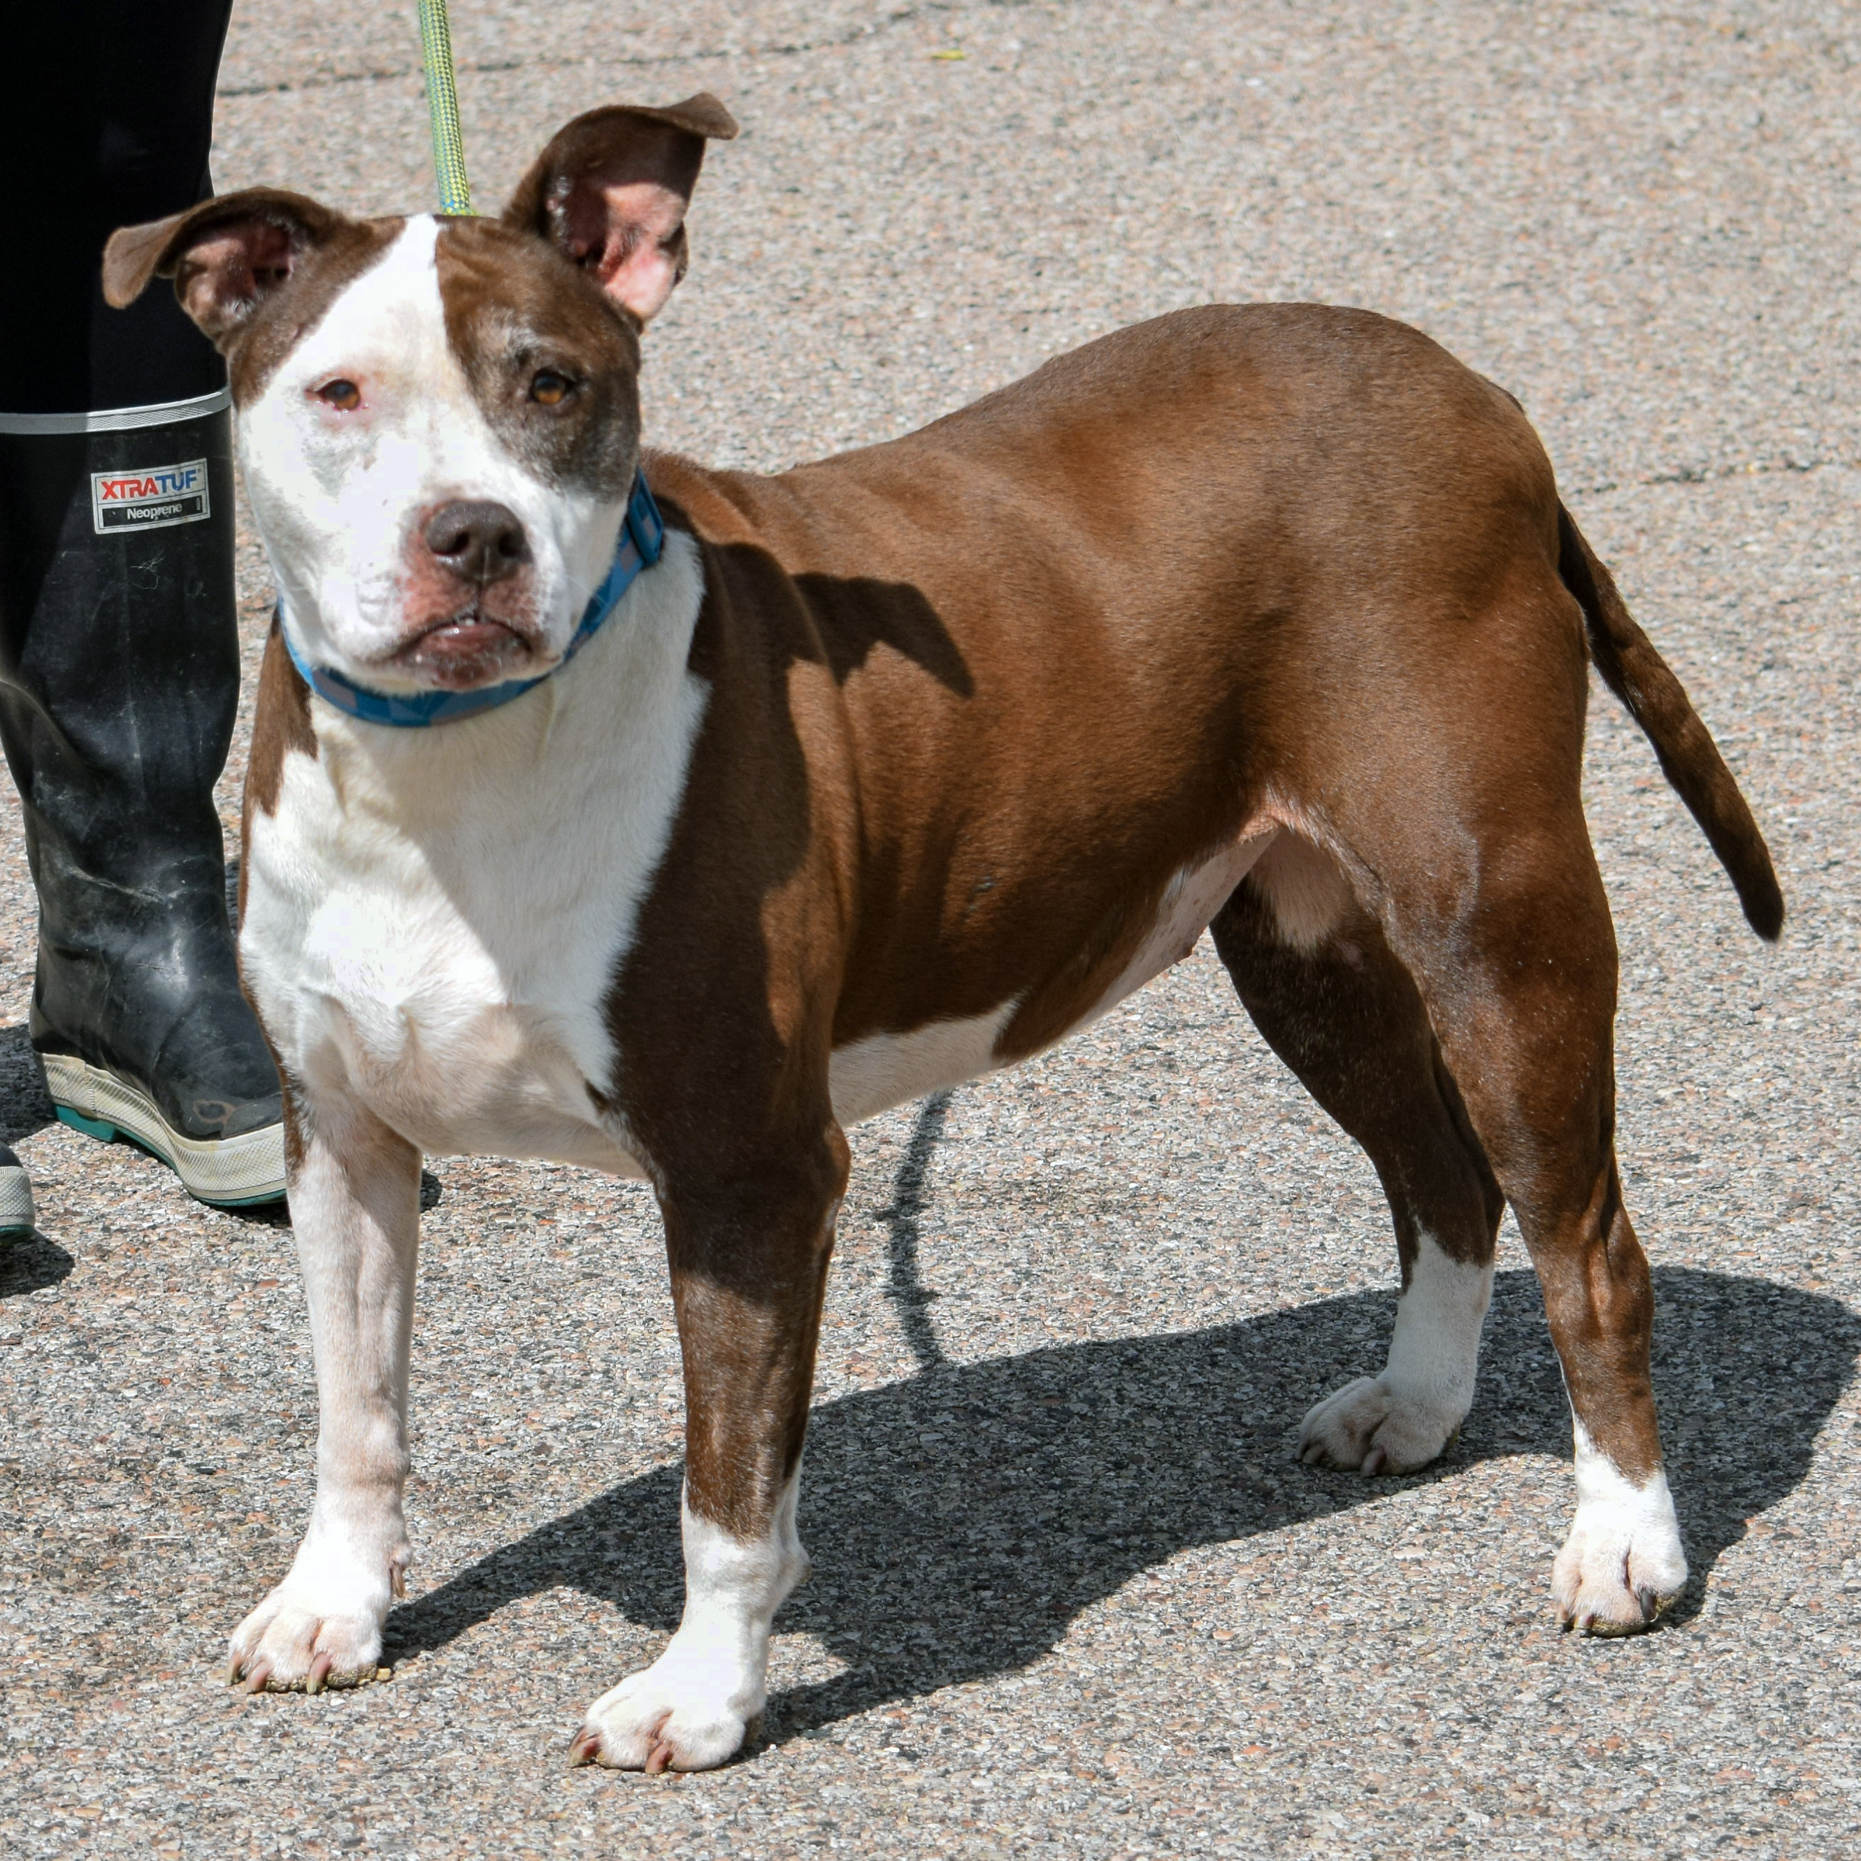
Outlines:
[[167,220],[119,227],[104,246],[104,300],[134,303],[171,277],[181,307],[223,344],[300,259],[348,221],[283,188],[246,188]]

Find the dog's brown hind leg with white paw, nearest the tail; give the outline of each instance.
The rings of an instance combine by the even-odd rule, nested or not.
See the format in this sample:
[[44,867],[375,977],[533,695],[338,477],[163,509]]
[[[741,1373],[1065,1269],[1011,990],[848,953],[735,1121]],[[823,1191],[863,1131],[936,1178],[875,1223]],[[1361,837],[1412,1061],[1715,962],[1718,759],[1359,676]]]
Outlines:
[[[1504,715],[1554,716],[1554,698]],[[1580,718],[1580,685],[1571,698]],[[1576,1435],[1558,1612],[1630,1634],[1679,1595],[1686,1556],[1654,1418],[1653,1282],[1615,1167],[1615,932],[1578,733],[1437,722],[1427,804],[1342,795],[1338,841],[1414,977],[1545,1293]]]

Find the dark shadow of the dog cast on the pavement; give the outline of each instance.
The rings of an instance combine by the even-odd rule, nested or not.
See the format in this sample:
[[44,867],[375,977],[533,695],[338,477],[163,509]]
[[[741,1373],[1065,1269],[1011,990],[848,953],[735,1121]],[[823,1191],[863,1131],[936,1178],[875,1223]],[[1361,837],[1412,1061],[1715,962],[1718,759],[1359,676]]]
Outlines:
[[[1861,1319],[1768,1280],[1658,1271],[1654,1385],[1694,1578],[1809,1468],[1850,1381]],[[1193,1545],[1325,1517],[1474,1461],[1571,1452],[1571,1418],[1530,1273],[1498,1275],[1481,1385],[1427,1472],[1299,1466],[1303,1409],[1383,1359],[1394,1299],[1359,1293],[1238,1325],[1078,1344],[977,1364],[815,1411],[802,1532],[815,1578],[778,1617],[847,1671],[770,1701],[791,1736],[888,1701],[1022,1667],[1089,1604]],[[679,1468],[661,1466],[502,1546],[398,1608],[389,1658],[441,1647],[504,1602],[569,1584],[672,1628],[683,1574]],[[1546,1519],[1546,1533],[1565,1519]]]

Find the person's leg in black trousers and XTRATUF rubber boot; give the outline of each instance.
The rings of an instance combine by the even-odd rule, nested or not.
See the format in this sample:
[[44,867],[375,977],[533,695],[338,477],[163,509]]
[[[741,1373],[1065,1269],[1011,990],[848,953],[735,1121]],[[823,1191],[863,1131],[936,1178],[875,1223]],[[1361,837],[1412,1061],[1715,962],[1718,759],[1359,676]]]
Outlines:
[[0,281],[0,741],[39,890],[32,1040],[65,1122],[212,1202],[283,1193],[277,1072],[238,988],[214,783],[238,703],[225,368],[167,292],[112,311],[117,225],[212,192],[231,0],[7,28],[26,190]]

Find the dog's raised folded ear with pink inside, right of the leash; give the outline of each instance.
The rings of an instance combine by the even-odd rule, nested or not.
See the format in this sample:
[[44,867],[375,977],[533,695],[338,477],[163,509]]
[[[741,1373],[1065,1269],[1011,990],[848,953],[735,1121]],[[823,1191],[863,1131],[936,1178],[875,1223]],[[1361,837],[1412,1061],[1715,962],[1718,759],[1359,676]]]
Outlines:
[[504,225],[556,244],[644,324],[690,262],[685,208],[703,145],[735,134],[735,117],[707,91],[664,110],[590,110],[560,128],[517,182]]

